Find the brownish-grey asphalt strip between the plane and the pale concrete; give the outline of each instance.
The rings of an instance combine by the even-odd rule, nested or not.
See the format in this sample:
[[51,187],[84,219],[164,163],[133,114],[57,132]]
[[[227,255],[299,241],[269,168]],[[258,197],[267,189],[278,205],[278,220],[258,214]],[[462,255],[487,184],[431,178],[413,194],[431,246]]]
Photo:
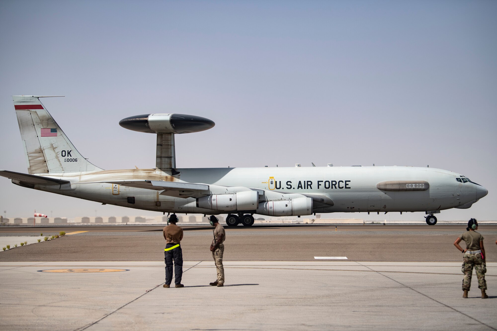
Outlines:
[[[163,260],[162,226],[2,228],[1,236],[75,233],[64,238],[0,252],[0,261]],[[184,227],[184,260],[210,260],[212,227]],[[69,232],[71,231],[71,232]],[[85,232],[80,232],[85,231]],[[225,260],[313,261],[342,256],[352,261],[460,261],[453,246],[464,226],[300,225],[226,227]],[[497,262],[497,226],[482,226],[487,260]]]

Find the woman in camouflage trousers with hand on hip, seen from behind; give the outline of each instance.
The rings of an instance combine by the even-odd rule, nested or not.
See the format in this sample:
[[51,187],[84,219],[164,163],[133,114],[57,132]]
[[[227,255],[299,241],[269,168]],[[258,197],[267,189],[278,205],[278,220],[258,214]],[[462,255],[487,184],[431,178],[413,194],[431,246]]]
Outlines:
[[[487,282],[485,281],[485,273],[487,266],[485,263],[485,248],[483,247],[483,236],[475,230],[478,230],[478,222],[472,218],[468,222],[466,232],[463,233],[454,242],[454,246],[463,253],[463,265],[461,271],[464,273],[463,278],[463,298],[468,297],[468,291],[471,287],[471,276],[473,268],[476,271],[478,278],[478,287],[482,290],[482,299],[487,299],[488,295],[485,293],[487,289]],[[461,240],[466,242],[466,249],[461,248],[459,243]]]

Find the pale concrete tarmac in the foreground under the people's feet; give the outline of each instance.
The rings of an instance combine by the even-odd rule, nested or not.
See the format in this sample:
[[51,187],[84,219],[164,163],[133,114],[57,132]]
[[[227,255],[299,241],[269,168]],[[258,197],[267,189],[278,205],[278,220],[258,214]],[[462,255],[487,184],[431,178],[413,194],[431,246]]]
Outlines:
[[[124,269],[79,273],[81,269]],[[497,330],[489,299],[463,299],[455,262],[186,261],[163,288],[157,261],[0,262],[1,330]],[[43,272],[54,269],[73,271]]]

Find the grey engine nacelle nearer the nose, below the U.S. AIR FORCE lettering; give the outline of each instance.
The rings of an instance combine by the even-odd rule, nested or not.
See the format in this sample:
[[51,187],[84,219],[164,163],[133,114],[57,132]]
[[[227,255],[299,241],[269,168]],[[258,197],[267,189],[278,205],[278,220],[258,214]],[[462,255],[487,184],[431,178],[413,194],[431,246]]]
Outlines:
[[261,202],[256,213],[268,216],[301,216],[311,215],[312,209],[312,198],[302,197],[291,200]]

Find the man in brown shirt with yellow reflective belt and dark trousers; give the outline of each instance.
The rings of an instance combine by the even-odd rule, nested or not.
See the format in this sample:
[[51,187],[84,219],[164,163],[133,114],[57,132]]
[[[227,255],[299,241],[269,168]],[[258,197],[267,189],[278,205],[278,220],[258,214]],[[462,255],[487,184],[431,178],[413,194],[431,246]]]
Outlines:
[[167,218],[167,226],[163,229],[166,248],[164,248],[164,261],[166,262],[166,283],[168,288],[172,281],[172,265],[174,261],[174,287],[183,287],[181,276],[183,274],[183,252],[179,243],[183,239],[183,229],[176,225],[178,217],[172,214]]

